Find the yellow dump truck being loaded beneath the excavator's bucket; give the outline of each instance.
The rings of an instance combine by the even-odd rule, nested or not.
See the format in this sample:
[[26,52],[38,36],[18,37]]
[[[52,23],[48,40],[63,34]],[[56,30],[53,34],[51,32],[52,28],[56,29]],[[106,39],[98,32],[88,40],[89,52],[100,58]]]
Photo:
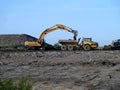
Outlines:
[[97,49],[98,43],[92,41],[92,38],[83,38],[80,43],[78,40],[59,40],[59,43],[62,45],[61,50],[74,50],[74,49],[83,49],[85,51]]

